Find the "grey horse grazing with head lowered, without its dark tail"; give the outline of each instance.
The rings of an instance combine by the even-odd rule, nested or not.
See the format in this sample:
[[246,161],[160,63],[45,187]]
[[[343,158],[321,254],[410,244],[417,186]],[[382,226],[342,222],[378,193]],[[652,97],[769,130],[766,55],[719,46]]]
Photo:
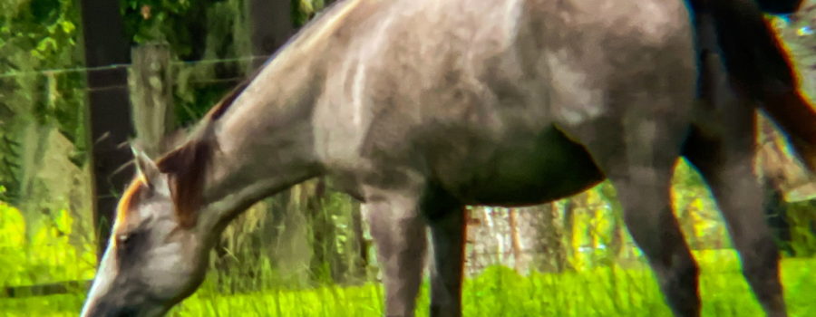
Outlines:
[[177,149],[136,152],[83,316],[167,312],[231,219],[319,176],[369,210],[388,316],[413,316],[426,230],[432,315],[461,315],[465,205],[538,204],[605,178],[666,302],[697,316],[669,197],[681,156],[713,189],[764,309],[784,316],[750,97],[704,58],[700,79],[722,90],[695,101],[691,21],[680,0],[340,2]]

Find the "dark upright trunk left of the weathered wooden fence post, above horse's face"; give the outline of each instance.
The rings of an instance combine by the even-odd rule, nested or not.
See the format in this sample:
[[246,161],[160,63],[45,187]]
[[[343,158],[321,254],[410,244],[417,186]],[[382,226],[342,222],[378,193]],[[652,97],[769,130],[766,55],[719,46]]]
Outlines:
[[[128,63],[130,45],[123,32],[119,2],[80,1],[87,67]],[[88,118],[91,151],[93,226],[97,234],[97,255],[108,244],[118,194],[132,177],[131,152],[121,147],[132,135],[127,72],[113,67],[88,72]],[[98,259],[102,259],[99,256]]]

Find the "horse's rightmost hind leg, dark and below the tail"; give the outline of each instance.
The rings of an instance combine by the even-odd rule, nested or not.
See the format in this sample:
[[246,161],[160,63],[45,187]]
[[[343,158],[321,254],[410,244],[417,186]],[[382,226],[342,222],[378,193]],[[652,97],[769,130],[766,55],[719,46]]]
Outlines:
[[763,211],[763,188],[753,173],[756,127],[747,96],[735,93],[714,56],[705,56],[702,98],[710,107],[708,121],[698,119],[686,141],[684,155],[711,188],[743,274],[769,316],[786,316],[779,280],[779,250]]

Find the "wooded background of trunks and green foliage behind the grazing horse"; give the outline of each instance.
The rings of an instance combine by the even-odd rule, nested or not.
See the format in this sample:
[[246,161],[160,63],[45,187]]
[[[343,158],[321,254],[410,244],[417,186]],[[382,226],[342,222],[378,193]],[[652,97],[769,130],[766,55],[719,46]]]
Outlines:
[[[100,11],[105,2],[107,13]],[[83,289],[103,244],[97,235],[107,235],[113,204],[132,176],[124,165],[126,141],[138,136],[159,156],[166,150],[160,139],[199,120],[325,5],[0,3],[0,297]],[[816,2],[789,20],[769,19],[794,56],[802,89],[816,96]],[[782,136],[761,122],[757,166],[767,184],[769,222],[786,255],[814,255],[816,187]],[[707,188],[683,161],[673,195],[695,250],[730,249]],[[471,275],[493,264],[521,274],[642,265],[607,183],[548,205],[469,209]],[[213,251],[208,283],[243,293],[376,281],[364,212],[325,179],[267,198],[228,226]]]

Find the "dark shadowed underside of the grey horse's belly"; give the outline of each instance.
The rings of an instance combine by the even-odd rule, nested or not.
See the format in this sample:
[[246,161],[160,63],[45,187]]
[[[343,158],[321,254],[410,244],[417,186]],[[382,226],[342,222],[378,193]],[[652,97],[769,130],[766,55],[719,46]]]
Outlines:
[[[584,191],[604,176],[586,149],[555,128],[529,139],[486,145],[482,159],[462,159],[453,195],[471,205],[523,206],[549,202]],[[478,147],[477,147],[478,148]],[[473,154],[479,156],[479,154]],[[442,179],[442,183],[445,181]]]

